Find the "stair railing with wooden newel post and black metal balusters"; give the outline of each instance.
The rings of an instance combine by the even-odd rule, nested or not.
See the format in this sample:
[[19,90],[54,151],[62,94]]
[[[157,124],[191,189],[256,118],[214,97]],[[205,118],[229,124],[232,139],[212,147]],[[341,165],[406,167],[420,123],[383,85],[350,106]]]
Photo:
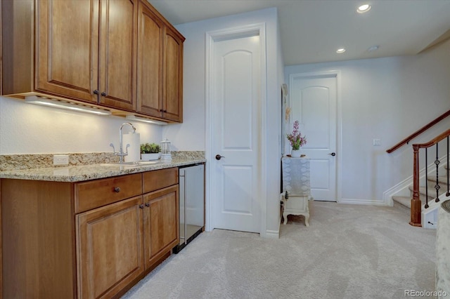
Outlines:
[[[447,167],[449,167],[449,154],[450,154],[450,150],[449,150],[449,136],[450,136],[450,130],[445,131],[444,133],[438,135],[436,138],[434,138],[433,140],[431,140],[430,142],[426,142],[426,143],[420,143],[420,144],[414,144],[413,145],[413,198],[411,199],[411,221],[409,222],[410,225],[413,226],[422,226],[422,221],[421,221],[421,213],[422,213],[422,203],[420,201],[420,194],[419,194],[419,150],[421,148],[425,148],[428,149],[428,147],[432,147],[433,145],[436,145],[436,168],[439,164],[439,159],[437,157],[437,149],[438,149],[438,145],[437,143],[441,140],[444,140],[445,138],[447,138]],[[425,157],[427,157],[427,154],[425,154]],[[425,162],[425,164],[427,164],[427,162]],[[427,173],[427,171],[425,171],[425,173]],[[448,183],[448,178],[449,178],[449,173],[447,170],[447,188],[449,187],[449,183]],[[437,184],[436,187],[436,191],[439,190],[439,184]],[[449,196],[449,191],[447,191],[447,196]],[[436,201],[439,201],[438,198],[438,194],[437,194],[437,198]],[[428,206],[428,198],[427,198],[427,206]]]

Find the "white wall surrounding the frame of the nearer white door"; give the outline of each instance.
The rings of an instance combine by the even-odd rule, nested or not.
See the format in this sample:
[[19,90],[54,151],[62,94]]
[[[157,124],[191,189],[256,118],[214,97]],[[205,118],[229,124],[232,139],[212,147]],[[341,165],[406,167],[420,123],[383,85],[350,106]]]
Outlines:
[[[231,15],[176,26],[186,37],[184,42],[184,109],[183,124],[164,128],[163,135],[171,138],[172,144],[184,150],[208,150],[205,145],[205,32],[266,23],[266,232],[278,233],[279,188],[280,188],[280,147],[278,146],[281,128],[280,84],[283,81],[283,63],[278,39],[278,18],[276,8],[251,13]],[[207,152],[208,154],[208,152]],[[212,163],[212,162],[211,162]],[[262,232],[264,235],[265,232]]]

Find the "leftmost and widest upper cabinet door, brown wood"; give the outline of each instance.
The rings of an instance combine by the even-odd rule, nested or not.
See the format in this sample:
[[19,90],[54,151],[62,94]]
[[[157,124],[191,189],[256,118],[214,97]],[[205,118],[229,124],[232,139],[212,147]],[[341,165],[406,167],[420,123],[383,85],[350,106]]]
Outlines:
[[35,89],[97,102],[98,1],[37,1]]

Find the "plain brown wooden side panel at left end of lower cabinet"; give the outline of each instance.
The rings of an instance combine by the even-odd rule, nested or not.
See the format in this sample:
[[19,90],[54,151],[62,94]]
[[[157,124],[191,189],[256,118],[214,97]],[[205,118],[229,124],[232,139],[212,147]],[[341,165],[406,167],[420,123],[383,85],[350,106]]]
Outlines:
[[1,298],[77,298],[72,183],[0,185]]

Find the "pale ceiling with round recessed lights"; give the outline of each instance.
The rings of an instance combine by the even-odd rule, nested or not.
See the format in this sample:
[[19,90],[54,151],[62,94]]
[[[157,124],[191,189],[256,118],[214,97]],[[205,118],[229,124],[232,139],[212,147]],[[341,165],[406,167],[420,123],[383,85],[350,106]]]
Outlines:
[[450,37],[450,0],[148,1],[173,25],[276,7],[285,65],[414,55]]

